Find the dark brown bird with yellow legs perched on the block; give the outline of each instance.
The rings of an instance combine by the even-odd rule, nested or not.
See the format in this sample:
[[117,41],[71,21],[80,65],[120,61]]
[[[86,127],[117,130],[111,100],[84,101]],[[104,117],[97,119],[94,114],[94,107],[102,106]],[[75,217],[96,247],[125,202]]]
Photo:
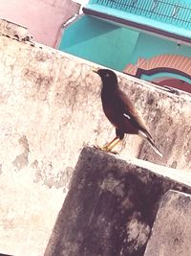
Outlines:
[[116,128],[116,138],[101,148],[102,151],[112,151],[124,138],[125,133],[138,134],[146,139],[152,148],[162,156],[154,144],[151,134],[148,132],[138,111],[130,102],[127,95],[119,88],[117,75],[109,69],[93,70],[102,81],[101,101],[103,111],[109,121]]

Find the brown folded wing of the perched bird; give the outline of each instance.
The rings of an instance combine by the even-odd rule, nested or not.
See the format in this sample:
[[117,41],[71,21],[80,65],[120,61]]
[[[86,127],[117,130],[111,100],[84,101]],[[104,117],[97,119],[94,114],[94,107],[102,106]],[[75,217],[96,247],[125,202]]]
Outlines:
[[148,129],[146,128],[144,121],[138,114],[138,110],[135,108],[135,106],[131,103],[129,98],[126,96],[124,92],[121,90],[118,91],[118,97],[119,103],[120,103],[120,109],[122,110],[122,115],[127,118],[132,125],[135,126],[135,128],[138,128],[138,130],[141,130],[144,132],[148,137],[151,138],[150,133],[148,132]]

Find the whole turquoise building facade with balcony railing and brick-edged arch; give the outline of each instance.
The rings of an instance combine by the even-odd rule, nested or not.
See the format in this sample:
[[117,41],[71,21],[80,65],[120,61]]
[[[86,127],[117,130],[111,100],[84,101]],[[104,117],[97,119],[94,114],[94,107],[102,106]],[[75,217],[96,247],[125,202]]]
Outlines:
[[191,5],[178,0],[91,0],[59,49],[191,91]]

